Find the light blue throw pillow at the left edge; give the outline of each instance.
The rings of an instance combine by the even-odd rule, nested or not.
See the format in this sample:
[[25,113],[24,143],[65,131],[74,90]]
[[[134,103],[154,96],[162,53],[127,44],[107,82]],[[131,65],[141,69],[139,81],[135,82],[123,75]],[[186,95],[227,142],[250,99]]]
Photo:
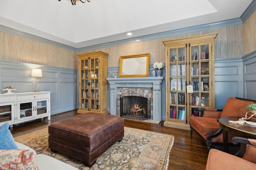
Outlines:
[[8,122],[0,127],[0,149],[19,149],[9,130]]

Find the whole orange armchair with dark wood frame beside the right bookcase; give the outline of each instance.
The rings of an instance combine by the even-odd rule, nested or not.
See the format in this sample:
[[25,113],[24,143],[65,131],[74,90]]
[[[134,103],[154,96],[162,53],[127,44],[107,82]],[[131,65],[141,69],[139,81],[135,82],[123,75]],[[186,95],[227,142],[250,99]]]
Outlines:
[[[192,137],[192,132],[195,131],[206,142],[208,149],[211,149],[213,144],[223,143],[218,119],[226,116],[241,117],[246,113],[246,107],[254,102],[256,101],[230,97],[222,110],[206,108],[200,117],[190,117],[190,136]],[[228,143],[232,143],[232,137],[234,135],[228,133]]]

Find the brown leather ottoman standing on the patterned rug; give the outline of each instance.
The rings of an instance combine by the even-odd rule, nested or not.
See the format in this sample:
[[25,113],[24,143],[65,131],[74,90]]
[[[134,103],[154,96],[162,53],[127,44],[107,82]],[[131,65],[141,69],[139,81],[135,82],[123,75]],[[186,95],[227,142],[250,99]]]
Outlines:
[[84,113],[52,123],[49,147],[91,167],[98,156],[124,137],[124,119],[116,115]]

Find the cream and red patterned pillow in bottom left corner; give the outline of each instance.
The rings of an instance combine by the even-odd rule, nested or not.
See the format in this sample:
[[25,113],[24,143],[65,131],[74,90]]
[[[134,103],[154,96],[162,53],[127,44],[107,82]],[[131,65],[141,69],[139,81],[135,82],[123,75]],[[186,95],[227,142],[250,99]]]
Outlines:
[[0,160],[2,170],[38,170],[32,150],[0,150]]

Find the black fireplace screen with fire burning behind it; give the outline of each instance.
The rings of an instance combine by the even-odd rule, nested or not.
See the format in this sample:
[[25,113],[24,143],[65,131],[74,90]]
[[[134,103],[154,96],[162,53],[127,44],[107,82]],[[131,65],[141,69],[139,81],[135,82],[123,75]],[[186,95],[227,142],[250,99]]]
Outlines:
[[120,116],[135,120],[150,119],[150,104],[150,96],[140,96],[128,91],[120,95]]

